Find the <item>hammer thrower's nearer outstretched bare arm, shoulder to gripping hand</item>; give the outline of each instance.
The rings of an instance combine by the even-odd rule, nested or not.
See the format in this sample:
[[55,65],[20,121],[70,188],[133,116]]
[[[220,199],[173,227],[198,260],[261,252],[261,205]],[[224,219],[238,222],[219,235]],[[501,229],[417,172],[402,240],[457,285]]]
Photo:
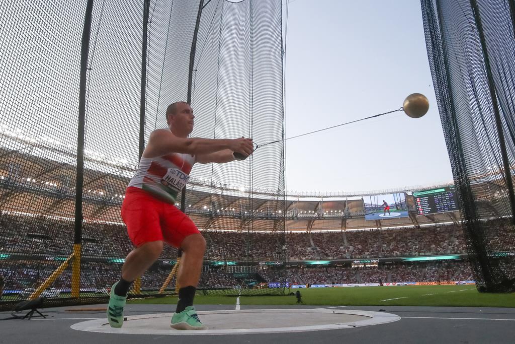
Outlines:
[[150,134],[143,157],[154,158],[174,153],[192,155],[209,154],[225,149],[250,155],[253,151],[251,139],[202,139],[177,137],[169,130],[158,129]]

